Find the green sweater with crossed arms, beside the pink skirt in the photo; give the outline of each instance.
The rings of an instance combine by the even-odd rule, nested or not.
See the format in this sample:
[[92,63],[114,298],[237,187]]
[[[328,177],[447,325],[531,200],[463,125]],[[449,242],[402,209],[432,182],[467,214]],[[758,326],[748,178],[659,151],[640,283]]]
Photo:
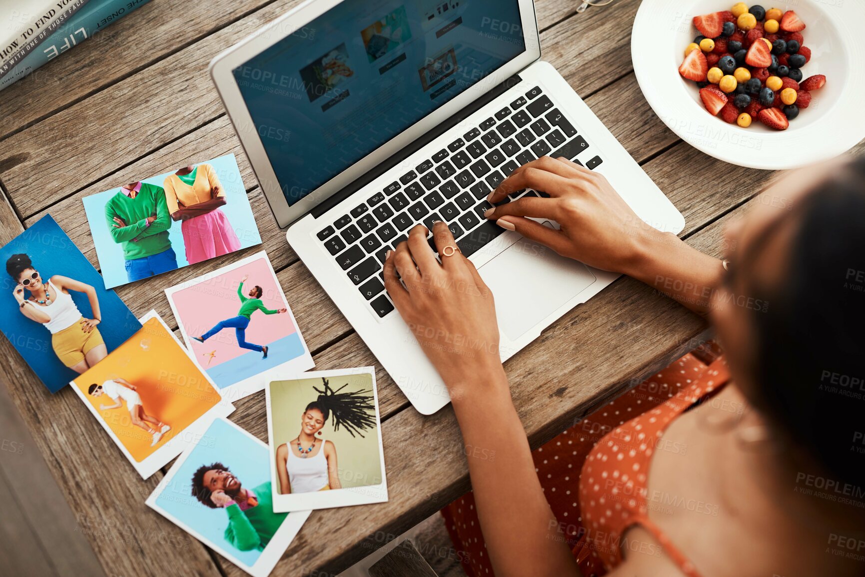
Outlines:
[[[147,217],[156,215],[156,220],[147,226]],[[115,228],[117,216],[125,227]],[[171,247],[168,229],[171,216],[165,203],[165,190],[161,186],[142,183],[135,198],[119,192],[106,202],[106,223],[112,239],[123,245],[125,260],[143,259],[146,256],[164,253]]]

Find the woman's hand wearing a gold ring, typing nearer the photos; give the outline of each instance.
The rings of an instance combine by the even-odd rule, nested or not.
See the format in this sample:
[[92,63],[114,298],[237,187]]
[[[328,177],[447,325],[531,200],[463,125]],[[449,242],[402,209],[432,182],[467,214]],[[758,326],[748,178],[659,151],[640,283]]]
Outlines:
[[451,256],[442,253],[445,247],[457,247],[445,223],[436,222],[432,231],[442,263],[427,244],[426,227],[418,225],[407,241],[388,253],[384,281],[397,311],[453,398],[478,375],[503,374],[496,306],[470,260],[458,251]]

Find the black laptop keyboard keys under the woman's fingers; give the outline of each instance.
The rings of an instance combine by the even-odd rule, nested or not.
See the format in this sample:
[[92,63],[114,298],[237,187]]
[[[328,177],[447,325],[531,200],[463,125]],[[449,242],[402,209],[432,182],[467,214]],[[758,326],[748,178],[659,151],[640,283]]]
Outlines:
[[[484,212],[491,208],[487,196],[511,172],[545,155],[594,170],[601,157],[577,160],[588,148],[586,138],[534,87],[319,231],[318,240],[375,315],[387,317],[394,305],[384,289],[385,255],[407,240],[410,228],[423,224],[432,230],[433,222],[445,221],[460,251],[471,256],[505,232]],[[520,190],[497,206],[522,196],[547,195]],[[432,234],[428,240],[436,252]]]

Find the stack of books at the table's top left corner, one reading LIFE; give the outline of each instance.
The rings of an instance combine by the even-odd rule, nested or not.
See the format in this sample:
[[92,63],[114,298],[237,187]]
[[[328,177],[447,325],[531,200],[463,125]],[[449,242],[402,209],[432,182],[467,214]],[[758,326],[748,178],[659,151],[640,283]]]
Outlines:
[[150,0],[0,0],[0,90]]

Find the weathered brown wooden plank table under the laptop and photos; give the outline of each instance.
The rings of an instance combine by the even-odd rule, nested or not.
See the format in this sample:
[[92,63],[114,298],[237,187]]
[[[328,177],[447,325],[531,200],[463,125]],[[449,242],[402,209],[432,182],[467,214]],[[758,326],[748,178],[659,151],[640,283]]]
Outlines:
[[[469,489],[451,408],[432,417],[416,413],[298,261],[270,215],[208,79],[215,54],[298,3],[153,0],[0,93],[0,243],[50,213],[96,266],[83,196],[234,152],[264,247],[317,369],[378,366],[390,501],[313,512],[273,572],[292,576],[336,574]],[[725,223],[746,210],[755,191],[775,175],[696,151],[650,111],[631,65],[638,0],[618,0],[581,15],[573,14],[577,4],[536,1],[543,58],[685,215],[682,238],[721,255]],[[863,150],[860,143],[856,151]],[[118,292],[136,314],[154,308],[176,329],[165,286],[257,250]],[[632,279],[618,279],[506,364],[531,446],[540,446],[706,337],[708,326],[700,317]],[[72,391],[48,394],[10,343],[0,340],[10,395],[106,574],[243,574],[145,507],[145,497],[163,473],[142,481]],[[236,405],[231,419],[266,441],[264,393]]]

